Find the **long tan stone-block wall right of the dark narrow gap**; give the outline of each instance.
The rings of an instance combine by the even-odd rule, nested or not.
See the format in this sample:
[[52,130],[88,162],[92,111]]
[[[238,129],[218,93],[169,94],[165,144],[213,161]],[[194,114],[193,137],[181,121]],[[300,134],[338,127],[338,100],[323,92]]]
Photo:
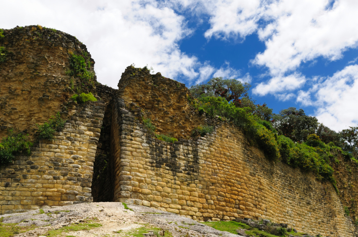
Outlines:
[[223,122],[196,141],[152,138],[124,100],[113,105],[114,200],[198,220],[271,219],[298,231],[352,237],[331,183],[271,162]]

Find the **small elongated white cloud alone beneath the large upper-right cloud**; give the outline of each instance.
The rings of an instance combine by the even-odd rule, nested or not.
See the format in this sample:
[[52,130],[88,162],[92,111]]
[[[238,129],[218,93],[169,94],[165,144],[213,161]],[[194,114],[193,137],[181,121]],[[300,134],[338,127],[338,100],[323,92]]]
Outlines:
[[304,85],[306,78],[298,73],[288,76],[272,77],[267,83],[258,84],[252,92],[256,95],[275,94],[277,92],[289,91]]

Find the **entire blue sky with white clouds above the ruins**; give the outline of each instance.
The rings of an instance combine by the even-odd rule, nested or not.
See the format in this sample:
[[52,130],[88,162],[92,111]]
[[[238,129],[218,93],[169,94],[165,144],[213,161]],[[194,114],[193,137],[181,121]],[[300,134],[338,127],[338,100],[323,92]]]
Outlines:
[[131,63],[187,87],[222,76],[251,84],[278,113],[302,108],[336,131],[358,123],[357,0],[13,0],[0,28],[75,35],[98,81]]

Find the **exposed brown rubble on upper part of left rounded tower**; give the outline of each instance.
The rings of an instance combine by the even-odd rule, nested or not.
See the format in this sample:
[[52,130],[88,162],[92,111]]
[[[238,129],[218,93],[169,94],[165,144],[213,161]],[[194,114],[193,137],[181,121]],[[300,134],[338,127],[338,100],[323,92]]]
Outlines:
[[[28,26],[4,30],[3,34],[0,46],[11,55],[0,63],[0,138],[10,127],[32,136],[36,123],[66,109],[75,93],[66,74],[70,53],[90,54],[78,39],[60,30]],[[91,62],[93,67],[94,60]],[[75,78],[72,81],[75,86],[79,83]],[[93,90],[92,85],[88,88]]]

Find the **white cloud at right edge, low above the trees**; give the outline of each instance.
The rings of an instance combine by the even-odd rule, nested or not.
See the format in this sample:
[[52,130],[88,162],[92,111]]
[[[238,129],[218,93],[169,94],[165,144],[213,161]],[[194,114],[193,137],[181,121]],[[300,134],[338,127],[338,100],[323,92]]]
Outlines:
[[350,65],[315,85],[316,117],[336,131],[358,123],[358,65]]

